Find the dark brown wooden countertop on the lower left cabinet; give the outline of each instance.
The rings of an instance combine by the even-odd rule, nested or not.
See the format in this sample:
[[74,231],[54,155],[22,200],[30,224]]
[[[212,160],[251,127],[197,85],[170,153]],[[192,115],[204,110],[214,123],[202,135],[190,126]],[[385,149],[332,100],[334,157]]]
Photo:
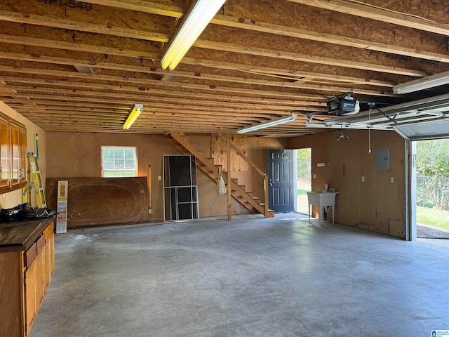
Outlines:
[[26,251],[54,218],[0,223],[0,252]]

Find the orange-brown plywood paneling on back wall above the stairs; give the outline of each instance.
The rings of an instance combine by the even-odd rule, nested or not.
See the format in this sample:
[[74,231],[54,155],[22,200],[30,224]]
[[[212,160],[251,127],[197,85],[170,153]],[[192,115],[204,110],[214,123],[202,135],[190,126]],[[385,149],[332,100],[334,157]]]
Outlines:
[[[246,135],[231,135],[229,139],[231,144],[237,147],[243,154],[247,153],[247,138]],[[226,135],[222,133],[213,134],[211,137],[212,157],[215,165],[222,165],[222,171],[227,171],[227,154],[226,154]],[[231,171],[247,171],[248,163],[231,150]]]

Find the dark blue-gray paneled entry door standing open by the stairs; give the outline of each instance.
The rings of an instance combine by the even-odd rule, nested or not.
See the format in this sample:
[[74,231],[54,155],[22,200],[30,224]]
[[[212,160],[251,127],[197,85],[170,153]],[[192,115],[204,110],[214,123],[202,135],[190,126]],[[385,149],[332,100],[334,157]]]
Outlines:
[[268,151],[269,209],[276,213],[295,211],[293,150]]

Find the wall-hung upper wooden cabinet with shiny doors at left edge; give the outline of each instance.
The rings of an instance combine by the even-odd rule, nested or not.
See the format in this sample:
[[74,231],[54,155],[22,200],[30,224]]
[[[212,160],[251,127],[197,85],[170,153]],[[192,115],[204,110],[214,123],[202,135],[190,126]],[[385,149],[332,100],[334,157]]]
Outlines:
[[0,193],[17,190],[27,183],[27,129],[0,114]]

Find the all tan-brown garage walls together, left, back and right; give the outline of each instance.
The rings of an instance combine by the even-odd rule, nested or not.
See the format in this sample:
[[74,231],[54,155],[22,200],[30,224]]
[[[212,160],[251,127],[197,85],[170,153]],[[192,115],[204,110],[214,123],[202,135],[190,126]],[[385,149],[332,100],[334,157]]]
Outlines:
[[[44,132],[34,123],[0,101],[0,111],[25,124],[27,151],[36,152],[36,134],[39,136],[39,166],[43,182],[46,177],[100,177],[102,145],[137,146],[139,175],[147,176],[152,166],[152,208],[150,220],[163,219],[162,155],[179,152],[163,136]],[[404,237],[405,228],[405,143],[394,131],[371,131],[368,153],[368,131],[346,130],[348,140],[339,140],[339,131],[314,136],[292,138],[248,138],[248,157],[267,172],[267,150],[312,147],[312,167],[316,179],[312,190],[321,190],[323,183],[340,191],[336,199],[335,220],[344,225],[361,227],[375,232]],[[197,136],[200,150],[210,154],[210,138]],[[390,171],[375,170],[375,149],[389,147]],[[329,166],[318,168],[317,162]],[[262,197],[262,184],[252,170],[232,173],[239,184],[246,185],[255,195]],[[361,176],[365,182],[361,182]],[[391,177],[394,183],[391,183]],[[253,180],[255,183],[253,184]],[[218,195],[215,181],[198,171],[200,216],[224,216],[227,198]],[[22,202],[21,190],[2,194],[0,207],[10,208]],[[35,206],[34,198],[32,206]],[[233,213],[247,213],[236,201]]]

